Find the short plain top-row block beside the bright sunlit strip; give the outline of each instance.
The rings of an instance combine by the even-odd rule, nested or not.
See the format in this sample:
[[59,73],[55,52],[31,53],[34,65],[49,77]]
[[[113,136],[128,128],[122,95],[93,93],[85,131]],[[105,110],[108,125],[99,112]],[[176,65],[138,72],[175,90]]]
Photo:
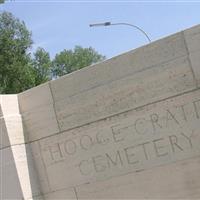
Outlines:
[[24,133],[29,141],[59,132],[49,84],[43,84],[18,96]]

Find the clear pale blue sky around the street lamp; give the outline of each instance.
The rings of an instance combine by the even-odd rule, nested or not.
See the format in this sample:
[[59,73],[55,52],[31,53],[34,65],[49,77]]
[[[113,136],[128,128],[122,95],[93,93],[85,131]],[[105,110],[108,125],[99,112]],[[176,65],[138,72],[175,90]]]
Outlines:
[[107,58],[148,43],[144,34],[129,26],[89,27],[91,23],[130,23],[152,41],[200,23],[199,1],[67,1],[7,0],[9,11],[32,32],[32,52],[43,47],[53,58],[76,45],[93,47]]

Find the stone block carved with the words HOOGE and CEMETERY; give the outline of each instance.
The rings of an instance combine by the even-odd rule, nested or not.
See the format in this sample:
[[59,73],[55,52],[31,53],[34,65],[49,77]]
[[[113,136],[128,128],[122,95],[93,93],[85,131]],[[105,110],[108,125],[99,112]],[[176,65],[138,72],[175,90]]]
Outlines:
[[[105,180],[199,156],[199,94],[145,106],[41,140],[52,187]],[[61,178],[63,174],[66,180]]]

